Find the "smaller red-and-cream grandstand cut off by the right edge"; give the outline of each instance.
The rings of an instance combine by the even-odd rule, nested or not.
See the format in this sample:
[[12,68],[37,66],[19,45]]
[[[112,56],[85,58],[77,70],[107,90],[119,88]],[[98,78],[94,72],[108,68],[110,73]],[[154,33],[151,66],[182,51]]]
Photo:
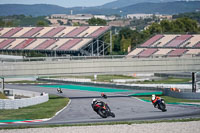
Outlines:
[[200,35],[155,35],[137,46],[127,57],[200,56]]

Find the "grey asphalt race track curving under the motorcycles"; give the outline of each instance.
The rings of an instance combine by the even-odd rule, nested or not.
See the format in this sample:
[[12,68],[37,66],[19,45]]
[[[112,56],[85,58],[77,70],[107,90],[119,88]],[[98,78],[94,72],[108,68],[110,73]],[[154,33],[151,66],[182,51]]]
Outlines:
[[[151,103],[141,101],[137,98],[128,97],[129,94],[147,92],[145,90],[106,93],[108,95],[108,98],[103,99],[100,97],[100,92],[92,91],[63,89],[63,93],[59,94],[56,88],[45,88],[36,85],[6,85],[6,88],[35,92],[46,92],[49,94],[69,97],[71,99],[71,103],[67,106],[67,108],[65,108],[49,121],[26,123],[25,125],[74,124],[128,120],[163,120],[200,117],[199,106],[167,104],[167,112],[162,112],[157,108],[154,108]],[[105,119],[96,114],[91,108],[91,101],[93,98],[108,103],[109,107],[111,108],[112,112],[115,113],[116,117],[108,117]]]

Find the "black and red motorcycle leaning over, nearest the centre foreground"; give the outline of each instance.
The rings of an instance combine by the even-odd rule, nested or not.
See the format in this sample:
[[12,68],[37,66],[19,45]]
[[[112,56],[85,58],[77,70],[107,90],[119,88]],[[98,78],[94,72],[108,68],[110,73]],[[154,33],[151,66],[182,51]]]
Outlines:
[[115,114],[111,112],[111,109],[109,108],[108,104],[101,102],[101,104],[95,104],[94,110],[97,112],[98,115],[100,115],[102,118],[107,118],[109,116],[115,117]]

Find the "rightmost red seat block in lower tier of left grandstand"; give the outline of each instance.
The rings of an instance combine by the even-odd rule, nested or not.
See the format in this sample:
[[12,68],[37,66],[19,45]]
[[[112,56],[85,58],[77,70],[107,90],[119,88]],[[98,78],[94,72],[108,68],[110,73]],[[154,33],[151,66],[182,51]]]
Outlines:
[[82,41],[82,39],[69,40],[68,42],[66,42],[65,44],[60,46],[57,50],[69,50],[70,48],[72,48],[73,46],[75,46],[76,44],[78,44],[81,41]]

